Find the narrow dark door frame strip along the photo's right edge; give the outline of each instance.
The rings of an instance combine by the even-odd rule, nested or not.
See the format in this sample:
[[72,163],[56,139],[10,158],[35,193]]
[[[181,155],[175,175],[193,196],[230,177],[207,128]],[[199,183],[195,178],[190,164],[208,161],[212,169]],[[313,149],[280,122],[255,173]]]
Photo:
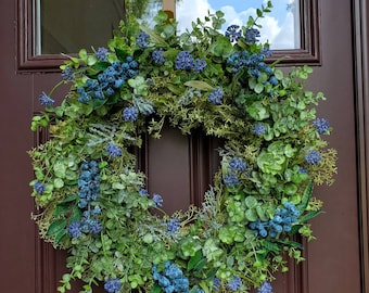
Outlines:
[[358,171],[361,291],[369,292],[369,5],[353,1],[354,85]]

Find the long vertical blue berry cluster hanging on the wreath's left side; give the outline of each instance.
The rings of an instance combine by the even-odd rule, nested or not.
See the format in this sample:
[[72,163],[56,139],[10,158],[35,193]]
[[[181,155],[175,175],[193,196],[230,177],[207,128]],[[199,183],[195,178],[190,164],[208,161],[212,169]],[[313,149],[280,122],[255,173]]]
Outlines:
[[84,216],[79,221],[71,222],[67,227],[67,231],[72,238],[79,238],[84,233],[97,234],[102,230],[102,224],[97,219],[101,214],[101,209],[97,205],[92,208],[92,204],[99,196],[100,179],[98,162],[84,162],[78,180],[78,207],[85,211],[82,213]]

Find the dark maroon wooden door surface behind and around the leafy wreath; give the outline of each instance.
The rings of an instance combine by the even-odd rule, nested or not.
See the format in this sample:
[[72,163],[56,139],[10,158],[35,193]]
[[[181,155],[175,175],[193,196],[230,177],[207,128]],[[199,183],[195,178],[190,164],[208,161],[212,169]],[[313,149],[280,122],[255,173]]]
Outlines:
[[[26,151],[44,139],[30,131],[30,118],[41,111],[38,95],[60,80],[60,73],[53,69],[55,58],[33,56],[33,40],[24,37],[33,22],[33,13],[26,13],[30,2],[0,2],[0,292],[51,293],[56,292],[64,270],[65,252],[40,241],[30,219],[34,203],[28,182],[33,174]],[[326,203],[326,213],[311,221],[317,241],[306,245],[306,262],[292,264],[289,273],[278,276],[273,292],[360,293],[366,292],[362,272],[367,260],[361,257],[360,215],[365,207],[359,205],[357,127],[364,122],[356,124],[358,56],[353,18],[360,1],[311,2],[319,8],[315,50],[320,53],[319,62],[311,65],[308,88],[328,97],[318,112],[334,127],[329,142],[339,152],[339,174],[332,187],[315,190]],[[201,133],[183,137],[169,127],[163,139],[147,140],[141,164],[149,175],[149,188],[163,195],[167,211],[201,203],[217,168],[218,143]]]

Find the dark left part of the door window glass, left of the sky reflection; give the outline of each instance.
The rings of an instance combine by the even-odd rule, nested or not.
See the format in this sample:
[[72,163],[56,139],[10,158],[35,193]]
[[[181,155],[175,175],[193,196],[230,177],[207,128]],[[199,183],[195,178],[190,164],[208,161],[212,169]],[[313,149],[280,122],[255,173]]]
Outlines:
[[161,0],[36,0],[36,54],[106,47],[127,15],[150,24]]

